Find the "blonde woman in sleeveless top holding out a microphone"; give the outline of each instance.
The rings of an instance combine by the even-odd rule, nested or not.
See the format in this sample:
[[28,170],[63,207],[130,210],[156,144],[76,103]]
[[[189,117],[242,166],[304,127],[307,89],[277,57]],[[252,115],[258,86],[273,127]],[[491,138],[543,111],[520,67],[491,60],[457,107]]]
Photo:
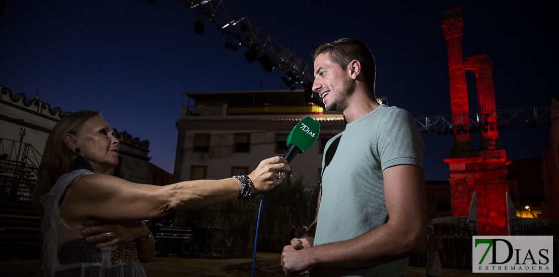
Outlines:
[[[135,184],[105,175],[118,165],[118,143],[97,111],[74,112],[49,135],[33,195],[42,215],[39,275],[145,276],[140,261],[153,260],[154,240],[140,220],[262,193],[281,183],[278,172],[290,170],[285,159],[273,157],[248,176]],[[111,224],[87,228],[92,220]],[[84,236],[96,231],[111,232]],[[113,234],[126,243],[101,249],[89,243],[103,236],[115,240]]]

